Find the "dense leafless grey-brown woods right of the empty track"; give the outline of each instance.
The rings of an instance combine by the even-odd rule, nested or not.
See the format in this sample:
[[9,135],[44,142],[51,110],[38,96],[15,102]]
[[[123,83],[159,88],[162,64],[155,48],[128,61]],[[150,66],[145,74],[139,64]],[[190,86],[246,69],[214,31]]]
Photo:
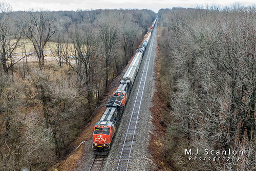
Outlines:
[[[158,92],[170,111],[162,116],[166,134],[161,153],[172,169],[256,169],[255,10],[234,5],[158,12]],[[201,155],[186,154],[190,148]],[[205,149],[214,155],[206,155]]]

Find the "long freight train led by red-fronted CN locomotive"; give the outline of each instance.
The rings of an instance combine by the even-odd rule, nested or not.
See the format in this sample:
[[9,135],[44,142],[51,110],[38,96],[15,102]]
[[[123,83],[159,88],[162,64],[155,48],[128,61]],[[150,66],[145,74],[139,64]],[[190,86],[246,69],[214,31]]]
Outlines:
[[157,18],[154,20],[150,31],[132,60],[129,68],[125,72],[124,76],[120,80],[120,85],[113,93],[113,97],[110,98],[108,104],[106,104],[106,110],[101,119],[94,125],[93,132],[93,149],[95,155],[106,155],[109,152],[114,133],[120,122],[125,103],[129,97],[131,88],[134,83],[134,79],[140,67],[140,63],[143,54],[146,50],[148,42],[150,41],[151,33],[156,24]]

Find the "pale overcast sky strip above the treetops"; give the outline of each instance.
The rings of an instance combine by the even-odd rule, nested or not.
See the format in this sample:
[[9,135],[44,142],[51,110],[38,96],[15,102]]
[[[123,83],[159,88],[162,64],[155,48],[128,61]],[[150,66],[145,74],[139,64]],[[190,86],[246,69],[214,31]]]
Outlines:
[[255,5],[255,0],[0,0],[9,3],[13,11],[44,9],[50,11],[77,9],[151,9],[158,12],[161,8],[184,7],[194,8],[197,6],[218,5],[220,7],[240,3],[244,6]]

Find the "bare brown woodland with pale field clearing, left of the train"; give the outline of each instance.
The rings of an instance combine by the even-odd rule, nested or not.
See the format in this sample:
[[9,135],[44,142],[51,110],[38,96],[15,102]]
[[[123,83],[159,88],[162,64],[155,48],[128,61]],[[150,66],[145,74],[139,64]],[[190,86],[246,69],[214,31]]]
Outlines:
[[0,10],[0,170],[47,170],[72,150],[156,14]]

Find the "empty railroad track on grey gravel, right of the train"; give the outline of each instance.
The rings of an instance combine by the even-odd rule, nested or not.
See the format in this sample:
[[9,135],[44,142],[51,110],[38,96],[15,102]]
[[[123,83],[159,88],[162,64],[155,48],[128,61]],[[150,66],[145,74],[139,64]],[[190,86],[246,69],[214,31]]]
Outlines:
[[[155,32],[152,36],[153,41],[154,41],[154,38],[155,38]],[[139,89],[138,89],[135,103],[133,106],[133,111],[131,114],[131,118],[128,124],[126,134],[125,134],[120,156],[119,156],[119,159],[117,159],[119,161],[118,161],[116,170],[131,170],[130,163],[131,163],[131,159],[133,158],[134,144],[135,144],[136,135],[138,132],[140,107],[141,107],[142,97],[143,97],[145,83],[146,83],[148,66],[150,64],[152,48],[153,48],[153,42],[151,42],[151,46],[147,54],[145,66],[140,79]]]

